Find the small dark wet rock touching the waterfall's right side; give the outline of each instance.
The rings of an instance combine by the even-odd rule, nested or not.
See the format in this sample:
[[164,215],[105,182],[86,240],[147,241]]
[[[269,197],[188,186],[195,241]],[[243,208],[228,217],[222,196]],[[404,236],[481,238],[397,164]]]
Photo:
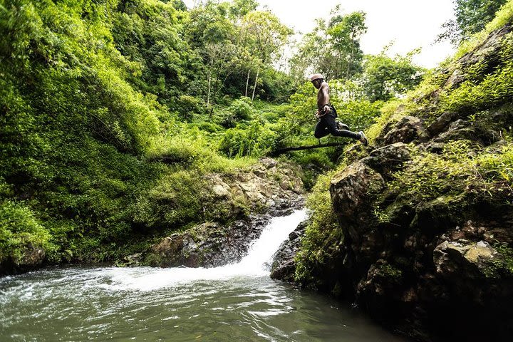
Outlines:
[[271,265],[271,278],[283,281],[294,281],[296,272],[296,262],[294,257],[299,251],[301,238],[306,229],[306,221],[301,222],[298,227],[289,234],[287,239],[278,251],[274,254],[273,263]]

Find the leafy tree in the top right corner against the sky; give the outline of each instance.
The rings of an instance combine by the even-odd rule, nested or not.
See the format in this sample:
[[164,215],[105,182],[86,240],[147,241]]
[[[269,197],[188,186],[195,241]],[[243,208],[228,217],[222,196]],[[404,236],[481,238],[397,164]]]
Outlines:
[[453,2],[456,19],[442,24],[445,31],[437,37],[437,41],[449,39],[451,43],[458,44],[481,31],[489,21],[494,19],[495,13],[507,0],[453,0]]

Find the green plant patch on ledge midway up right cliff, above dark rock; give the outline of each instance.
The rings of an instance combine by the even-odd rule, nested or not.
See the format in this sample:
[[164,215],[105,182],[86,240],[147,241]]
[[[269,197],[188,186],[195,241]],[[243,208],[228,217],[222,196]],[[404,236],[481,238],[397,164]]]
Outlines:
[[440,154],[419,152],[411,167],[395,174],[390,188],[408,189],[412,197],[427,202],[439,196],[466,193],[490,199],[513,195],[513,145],[497,150],[468,140],[445,145]]

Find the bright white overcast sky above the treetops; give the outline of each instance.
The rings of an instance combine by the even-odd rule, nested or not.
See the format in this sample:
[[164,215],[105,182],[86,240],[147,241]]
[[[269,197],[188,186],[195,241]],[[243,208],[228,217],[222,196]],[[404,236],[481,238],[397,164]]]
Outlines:
[[[192,7],[195,1],[184,0]],[[421,52],[414,63],[425,68],[435,68],[438,63],[454,53],[449,42],[434,43],[442,24],[453,19],[452,0],[258,0],[282,23],[295,31],[309,33],[315,19],[328,19],[337,4],[342,13],[366,12],[367,33],[361,38],[363,53],[378,54],[393,42],[388,55],[405,55],[415,48]]]

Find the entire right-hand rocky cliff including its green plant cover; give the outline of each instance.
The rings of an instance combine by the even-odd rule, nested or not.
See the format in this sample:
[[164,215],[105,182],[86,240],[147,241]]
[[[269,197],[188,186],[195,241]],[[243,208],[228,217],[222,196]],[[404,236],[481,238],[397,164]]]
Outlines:
[[512,31],[445,63],[348,150],[329,186],[338,224],[306,229],[296,281],[420,341],[513,336]]

